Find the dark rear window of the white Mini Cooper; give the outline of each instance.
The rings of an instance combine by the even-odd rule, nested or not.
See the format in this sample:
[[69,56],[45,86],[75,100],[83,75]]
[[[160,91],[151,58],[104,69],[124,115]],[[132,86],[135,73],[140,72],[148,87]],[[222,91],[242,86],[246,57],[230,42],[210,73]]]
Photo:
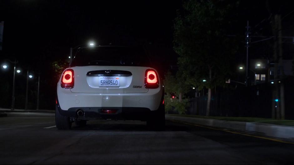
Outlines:
[[138,47],[84,47],[74,55],[71,66],[142,66],[151,67],[144,50]]

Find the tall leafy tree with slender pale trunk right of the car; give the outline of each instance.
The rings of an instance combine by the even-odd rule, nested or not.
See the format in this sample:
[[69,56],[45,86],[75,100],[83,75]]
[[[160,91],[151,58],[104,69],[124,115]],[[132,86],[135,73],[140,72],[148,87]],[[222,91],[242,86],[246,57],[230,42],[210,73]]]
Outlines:
[[206,116],[210,114],[211,88],[224,86],[231,74],[237,42],[226,35],[238,3],[190,0],[175,18],[174,50],[179,54],[179,70],[187,83],[208,88]]

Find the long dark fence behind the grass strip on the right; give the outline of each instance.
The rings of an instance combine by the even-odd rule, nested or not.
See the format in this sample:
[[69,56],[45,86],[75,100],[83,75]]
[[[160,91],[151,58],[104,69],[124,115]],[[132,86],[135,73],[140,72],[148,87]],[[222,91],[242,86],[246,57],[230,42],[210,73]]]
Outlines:
[[[281,83],[284,84],[285,91],[285,117],[294,119],[294,78],[285,78]],[[263,83],[235,90],[219,90],[212,93],[210,115],[271,118],[272,108],[275,109],[276,106],[273,89],[274,84]],[[206,106],[207,95],[192,98],[187,114],[205,115]]]

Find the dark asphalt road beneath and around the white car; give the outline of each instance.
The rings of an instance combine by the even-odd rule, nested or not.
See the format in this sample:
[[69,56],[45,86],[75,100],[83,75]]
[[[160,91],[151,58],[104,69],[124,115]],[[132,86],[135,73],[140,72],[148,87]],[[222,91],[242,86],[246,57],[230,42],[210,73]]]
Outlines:
[[293,164],[294,145],[166,121],[89,121],[57,130],[53,113],[0,118],[0,164]]

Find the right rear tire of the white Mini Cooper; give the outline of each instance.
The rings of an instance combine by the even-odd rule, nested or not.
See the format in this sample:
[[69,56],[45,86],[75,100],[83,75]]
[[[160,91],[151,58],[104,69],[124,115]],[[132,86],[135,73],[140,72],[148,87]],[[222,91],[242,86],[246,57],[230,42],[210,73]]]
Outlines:
[[164,130],[165,129],[165,108],[164,105],[160,105],[160,107],[150,113],[150,117],[146,122],[148,128],[154,130]]

